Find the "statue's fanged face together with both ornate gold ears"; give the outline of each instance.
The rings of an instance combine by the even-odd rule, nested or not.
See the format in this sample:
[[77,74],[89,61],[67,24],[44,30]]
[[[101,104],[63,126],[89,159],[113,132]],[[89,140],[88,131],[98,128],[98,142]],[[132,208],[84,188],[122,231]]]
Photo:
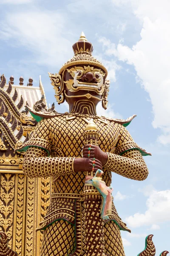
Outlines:
[[105,80],[106,73],[102,68],[77,64],[60,74],[49,73],[49,76],[58,104],[66,100],[71,106],[82,99],[91,101],[94,105],[102,101],[102,107],[107,108],[109,81]]

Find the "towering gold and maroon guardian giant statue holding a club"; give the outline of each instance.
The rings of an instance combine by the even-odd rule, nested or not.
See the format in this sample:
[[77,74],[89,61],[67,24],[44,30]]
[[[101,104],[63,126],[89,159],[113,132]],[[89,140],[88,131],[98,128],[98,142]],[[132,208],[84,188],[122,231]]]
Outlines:
[[[44,230],[41,256],[124,256],[120,230],[130,230],[119,217],[114,204],[108,218],[100,221],[103,225],[101,236],[90,235],[95,234],[99,225],[95,215],[99,217],[100,214],[101,195],[95,195],[89,185],[89,193],[94,195],[91,198],[96,200],[95,207],[93,200],[83,199],[86,173],[81,170],[88,171],[86,163],[91,163],[91,158],[85,160],[84,155],[82,157],[85,127],[93,119],[98,128],[99,147],[94,147],[93,152],[98,159],[96,164],[100,166],[101,163],[104,171],[102,180],[108,187],[111,186],[111,172],[134,180],[146,179],[148,170],[142,155],[149,153],[133,141],[125,128],[134,116],[119,120],[96,115],[99,101],[102,101],[103,108],[107,107],[107,70],[91,55],[92,44],[84,35],[73,48],[74,57],[61,68],[59,74],[49,74],[58,103],[66,100],[69,113],[48,113],[38,105],[29,108],[40,122],[31,138],[17,148],[17,151],[26,151],[23,170],[28,177],[53,179],[51,204],[37,229]],[[102,157],[98,158],[99,155]],[[91,210],[87,211],[87,204],[91,205]],[[89,234],[85,228],[87,221],[91,230]],[[89,247],[88,241],[94,245]],[[101,248],[93,250],[99,247],[97,243],[102,245]]]

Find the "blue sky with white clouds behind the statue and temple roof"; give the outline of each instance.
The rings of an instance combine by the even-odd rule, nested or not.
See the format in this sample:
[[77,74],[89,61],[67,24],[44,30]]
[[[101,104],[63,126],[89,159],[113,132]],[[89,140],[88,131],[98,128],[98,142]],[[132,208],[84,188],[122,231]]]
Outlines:
[[[113,174],[114,203],[132,230],[122,232],[126,256],[144,249],[154,234],[156,255],[170,251],[170,2],[168,0],[0,0],[0,73],[23,76],[55,102],[48,72],[57,73],[73,56],[83,31],[111,80],[108,110],[99,115],[126,119],[145,157],[149,176],[142,182]],[[58,112],[67,111],[66,104]]]

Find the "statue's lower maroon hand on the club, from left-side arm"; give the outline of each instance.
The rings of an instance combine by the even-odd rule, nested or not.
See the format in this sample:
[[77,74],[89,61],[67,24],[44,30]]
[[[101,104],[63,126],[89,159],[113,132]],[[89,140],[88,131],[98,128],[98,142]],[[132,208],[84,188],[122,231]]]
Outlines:
[[93,162],[93,158],[75,157],[73,166],[74,172],[91,172],[93,167],[94,172],[96,172],[97,169],[102,170],[102,163],[98,159],[95,160],[95,164]]

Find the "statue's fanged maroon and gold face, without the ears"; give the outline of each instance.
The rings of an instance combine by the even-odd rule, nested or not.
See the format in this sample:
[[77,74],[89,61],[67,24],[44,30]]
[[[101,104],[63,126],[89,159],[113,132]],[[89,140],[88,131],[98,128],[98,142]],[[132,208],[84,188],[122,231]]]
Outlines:
[[63,81],[65,97],[85,96],[102,99],[105,89],[105,73],[90,65],[72,66],[65,70]]

